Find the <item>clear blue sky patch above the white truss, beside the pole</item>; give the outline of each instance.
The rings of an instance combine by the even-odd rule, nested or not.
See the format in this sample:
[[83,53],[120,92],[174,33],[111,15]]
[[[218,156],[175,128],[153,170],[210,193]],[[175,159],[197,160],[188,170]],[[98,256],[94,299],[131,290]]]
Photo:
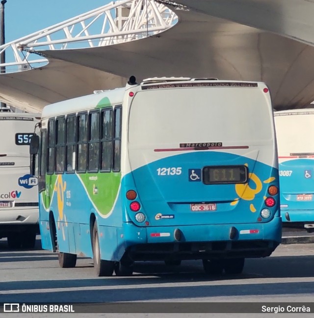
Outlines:
[[111,2],[110,0],[7,0],[5,42],[50,27]]

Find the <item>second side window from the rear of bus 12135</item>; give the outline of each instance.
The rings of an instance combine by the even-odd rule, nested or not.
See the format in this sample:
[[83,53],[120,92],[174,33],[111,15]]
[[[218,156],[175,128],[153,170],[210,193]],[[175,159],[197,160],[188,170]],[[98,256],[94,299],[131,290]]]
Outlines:
[[101,132],[101,170],[111,170],[112,151],[112,109],[105,108],[102,111],[102,132]]

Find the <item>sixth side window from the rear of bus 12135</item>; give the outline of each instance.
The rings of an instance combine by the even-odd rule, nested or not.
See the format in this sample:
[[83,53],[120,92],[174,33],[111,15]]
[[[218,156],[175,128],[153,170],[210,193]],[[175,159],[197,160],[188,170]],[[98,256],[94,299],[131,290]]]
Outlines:
[[65,162],[65,118],[56,119],[55,172],[64,172]]

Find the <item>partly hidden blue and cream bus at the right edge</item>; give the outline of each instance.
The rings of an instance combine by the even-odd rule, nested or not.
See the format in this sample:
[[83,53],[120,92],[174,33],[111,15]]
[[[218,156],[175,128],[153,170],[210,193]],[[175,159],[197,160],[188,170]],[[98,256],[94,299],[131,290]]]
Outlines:
[[314,109],[274,112],[283,225],[314,230]]

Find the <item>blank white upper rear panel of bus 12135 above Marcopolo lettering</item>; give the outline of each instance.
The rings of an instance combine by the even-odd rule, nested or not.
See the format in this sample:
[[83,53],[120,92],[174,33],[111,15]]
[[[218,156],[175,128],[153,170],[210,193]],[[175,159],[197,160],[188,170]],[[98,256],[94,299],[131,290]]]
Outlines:
[[256,145],[273,138],[272,112],[254,88],[152,90],[136,94],[131,104],[130,146]]

